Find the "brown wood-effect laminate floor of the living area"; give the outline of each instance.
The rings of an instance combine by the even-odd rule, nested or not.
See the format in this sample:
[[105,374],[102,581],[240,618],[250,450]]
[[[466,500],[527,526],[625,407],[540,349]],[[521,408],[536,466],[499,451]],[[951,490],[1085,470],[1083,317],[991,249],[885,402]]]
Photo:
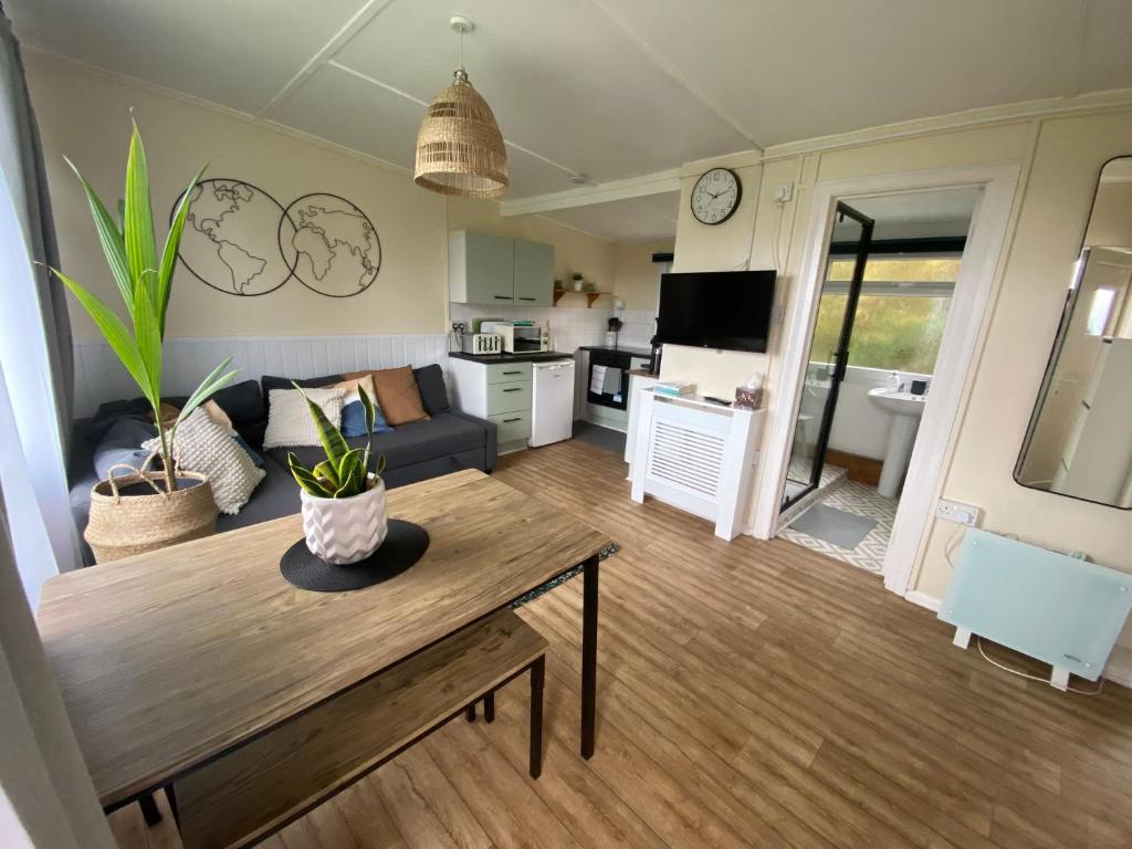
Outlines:
[[[593,760],[571,581],[521,611],[551,644],[541,779],[520,679],[495,724],[449,723],[265,846],[1132,846],[1132,692],[1000,672],[873,575],[634,504],[620,458],[581,441],[497,474],[621,544],[601,573]],[[137,806],[111,823],[122,847],[180,846]]]

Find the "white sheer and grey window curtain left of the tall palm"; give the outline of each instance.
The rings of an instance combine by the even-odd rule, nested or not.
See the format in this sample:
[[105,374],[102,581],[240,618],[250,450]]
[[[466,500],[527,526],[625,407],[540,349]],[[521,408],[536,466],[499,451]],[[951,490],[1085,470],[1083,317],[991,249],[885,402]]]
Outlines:
[[70,516],[70,327],[55,264],[35,115],[19,44],[0,15],[0,477],[32,607],[52,574],[76,568]]

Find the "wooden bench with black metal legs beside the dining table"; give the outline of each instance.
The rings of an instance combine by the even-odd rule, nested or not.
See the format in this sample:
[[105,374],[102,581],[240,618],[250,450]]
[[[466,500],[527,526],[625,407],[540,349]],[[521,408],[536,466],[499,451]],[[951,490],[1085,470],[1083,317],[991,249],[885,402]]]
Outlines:
[[170,801],[186,849],[263,840],[531,670],[531,763],[542,765],[547,641],[505,610],[179,779]]

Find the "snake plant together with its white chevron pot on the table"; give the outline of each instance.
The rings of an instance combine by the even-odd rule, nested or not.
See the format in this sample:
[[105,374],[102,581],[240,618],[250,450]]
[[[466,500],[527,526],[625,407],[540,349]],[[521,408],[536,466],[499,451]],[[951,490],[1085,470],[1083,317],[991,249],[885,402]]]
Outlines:
[[[294,387],[302,392],[298,384]],[[366,431],[370,434],[365,448],[351,448],[323,408],[302,393],[318,428],[326,460],[307,469],[293,452],[288,454],[291,474],[302,489],[302,532],[307,537],[307,548],[336,566],[359,563],[374,554],[385,542],[389,524],[385,481],[381,480],[385,455],[377,458],[376,470],[369,471],[376,418],[374,401],[360,386],[358,394],[366,411]]]

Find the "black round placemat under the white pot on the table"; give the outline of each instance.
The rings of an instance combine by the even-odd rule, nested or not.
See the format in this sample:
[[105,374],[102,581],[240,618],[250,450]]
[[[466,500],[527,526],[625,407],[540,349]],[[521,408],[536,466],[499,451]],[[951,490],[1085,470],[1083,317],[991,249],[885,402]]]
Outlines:
[[302,590],[342,592],[372,586],[400,575],[428,550],[428,531],[412,522],[389,520],[385,542],[365,560],[335,566],[311,554],[307,540],[295,542],[283,554],[280,572]]

